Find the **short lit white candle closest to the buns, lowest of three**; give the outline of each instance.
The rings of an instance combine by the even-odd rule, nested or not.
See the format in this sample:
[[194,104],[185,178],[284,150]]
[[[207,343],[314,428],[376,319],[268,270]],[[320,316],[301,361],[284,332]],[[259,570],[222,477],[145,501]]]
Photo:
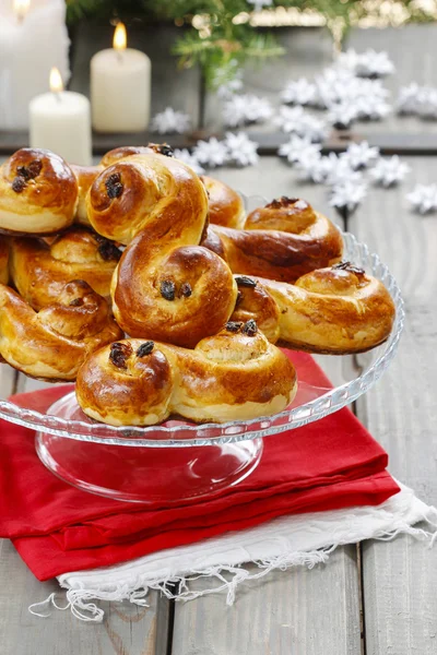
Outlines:
[[69,164],[91,164],[90,102],[80,93],[63,91],[56,68],[50,71],[50,93],[31,102],[29,127],[32,147],[51,150]]

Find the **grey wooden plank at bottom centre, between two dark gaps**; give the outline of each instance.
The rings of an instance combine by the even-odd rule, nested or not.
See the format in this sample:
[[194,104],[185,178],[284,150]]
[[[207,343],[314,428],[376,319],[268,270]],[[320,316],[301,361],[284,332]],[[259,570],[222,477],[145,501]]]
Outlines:
[[[199,581],[196,588],[211,586]],[[328,565],[275,571],[224,594],[177,603],[172,655],[359,655],[359,607],[354,547]]]

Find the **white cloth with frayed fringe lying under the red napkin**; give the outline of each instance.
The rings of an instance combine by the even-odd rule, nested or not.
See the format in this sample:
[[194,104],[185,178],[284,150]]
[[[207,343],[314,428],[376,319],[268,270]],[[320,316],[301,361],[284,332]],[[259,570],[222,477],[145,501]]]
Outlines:
[[[64,573],[58,581],[67,590],[67,603],[59,605],[55,594],[50,594],[46,600],[32,605],[29,611],[47,617],[55,606],[70,609],[81,620],[99,622],[104,611],[96,602],[130,600],[146,606],[150,590],[158,590],[176,600],[223,593],[224,602],[232,605],[246,581],[264,577],[274,569],[329,565],[330,553],[345,544],[390,540],[406,534],[433,546],[437,538],[437,510],[418,500],[408,487],[400,487],[399,493],[378,507],[282,516],[123,564]],[[420,522],[427,525],[416,526]],[[248,568],[249,563],[256,568]],[[202,591],[192,585],[199,577],[210,580]]]

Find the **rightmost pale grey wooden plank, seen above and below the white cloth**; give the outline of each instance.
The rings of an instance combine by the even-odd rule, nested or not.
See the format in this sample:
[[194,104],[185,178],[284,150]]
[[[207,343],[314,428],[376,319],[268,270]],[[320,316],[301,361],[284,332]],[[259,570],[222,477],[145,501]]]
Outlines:
[[[369,193],[353,229],[397,275],[406,305],[399,353],[357,403],[358,416],[387,449],[391,473],[437,504],[435,344],[437,221],[408,209],[405,188],[435,181],[437,159],[410,159],[409,184]],[[430,655],[437,639],[437,551],[421,541],[363,545],[367,655]]]

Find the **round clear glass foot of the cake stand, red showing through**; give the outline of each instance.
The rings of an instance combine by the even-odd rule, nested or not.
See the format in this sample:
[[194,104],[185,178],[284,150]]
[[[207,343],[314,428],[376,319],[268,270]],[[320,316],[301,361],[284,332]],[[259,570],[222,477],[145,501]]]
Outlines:
[[128,448],[37,432],[36,452],[51,473],[74,487],[158,507],[237,485],[257,467],[262,439],[191,448]]

